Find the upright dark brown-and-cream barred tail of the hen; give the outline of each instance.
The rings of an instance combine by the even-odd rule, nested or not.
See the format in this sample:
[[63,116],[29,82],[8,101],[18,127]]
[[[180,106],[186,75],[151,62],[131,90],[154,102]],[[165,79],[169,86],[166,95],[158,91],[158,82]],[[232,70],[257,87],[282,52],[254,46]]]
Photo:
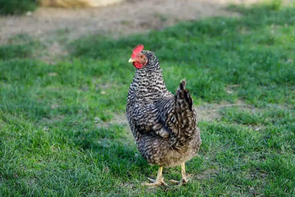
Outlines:
[[176,149],[185,149],[194,137],[197,128],[196,111],[186,81],[182,79],[174,95],[174,113],[170,118],[172,133],[170,143]]

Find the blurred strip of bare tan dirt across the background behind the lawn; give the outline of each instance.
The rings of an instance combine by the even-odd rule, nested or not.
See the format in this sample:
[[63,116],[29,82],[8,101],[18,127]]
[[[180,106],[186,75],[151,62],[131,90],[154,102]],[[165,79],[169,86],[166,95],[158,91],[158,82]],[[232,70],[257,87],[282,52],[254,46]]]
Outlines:
[[180,20],[209,16],[237,16],[225,8],[229,3],[251,4],[263,0],[126,0],[121,4],[87,9],[40,7],[24,16],[0,17],[1,41],[19,33],[50,36],[67,30],[68,38],[94,32],[113,35],[144,32],[173,25]]

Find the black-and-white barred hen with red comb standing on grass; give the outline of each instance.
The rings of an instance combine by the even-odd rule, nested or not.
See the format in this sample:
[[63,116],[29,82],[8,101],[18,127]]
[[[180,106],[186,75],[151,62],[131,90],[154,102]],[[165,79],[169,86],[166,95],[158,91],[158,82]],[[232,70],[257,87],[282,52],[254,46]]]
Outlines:
[[129,62],[136,71],[129,87],[126,114],[137,149],[150,165],[159,165],[156,180],[145,185],[167,185],[164,167],[181,165],[181,181],[187,183],[184,163],[200,148],[200,130],[190,93],[181,80],[175,95],[166,89],[158,58],[137,45]]

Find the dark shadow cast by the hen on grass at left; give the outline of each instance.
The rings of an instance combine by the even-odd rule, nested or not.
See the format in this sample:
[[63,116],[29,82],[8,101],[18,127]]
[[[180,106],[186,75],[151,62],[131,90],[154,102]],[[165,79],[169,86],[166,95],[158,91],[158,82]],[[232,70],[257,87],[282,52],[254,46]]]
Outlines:
[[112,174],[122,179],[150,175],[153,167],[137,151],[132,138],[124,133],[112,135],[110,129],[106,135],[105,131],[78,132],[73,136],[73,143],[82,150],[91,151],[92,157],[99,161],[98,165],[107,167]]

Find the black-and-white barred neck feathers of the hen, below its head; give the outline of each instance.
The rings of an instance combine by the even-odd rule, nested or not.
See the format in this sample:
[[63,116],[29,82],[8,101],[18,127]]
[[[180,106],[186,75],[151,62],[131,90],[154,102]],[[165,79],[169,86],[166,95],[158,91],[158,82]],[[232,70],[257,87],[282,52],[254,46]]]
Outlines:
[[128,100],[152,101],[167,92],[159,63],[153,69],[137,69],[128,91]]

